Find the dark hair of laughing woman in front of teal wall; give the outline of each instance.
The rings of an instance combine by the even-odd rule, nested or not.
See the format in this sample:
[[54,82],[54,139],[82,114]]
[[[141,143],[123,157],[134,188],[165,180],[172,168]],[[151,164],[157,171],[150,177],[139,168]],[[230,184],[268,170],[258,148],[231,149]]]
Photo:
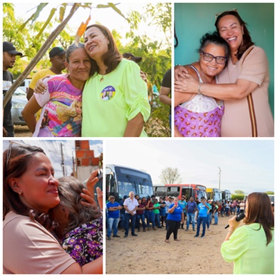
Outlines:
[[220,14],[216,21],[215,21],[215,27],[217,28],[217,33],[220,34],[220,30],[218,29],[218,23],[220,21],[220,19],[222,19],[222,17],[226,16],[226,15],[233,15],[234,17],[236,17],[240,23],[240,26],[243,26],[243,35],[242,35],[242,44],[239,46],[238,48],[238,53],[236,53],[236,57],[238,58],[238,60],[240,60],[240,58],[242,57],[243,53],[245,51],[247,51],[247,49],[252,46],[254,43],[252,42],[251,36],[250,36],[250,32],[247,29],[247,23],[244,22],[242,20],[242,18],[240,17],[240,15],[238,14],[238,12],[236,10],[229,10],[226,12],[222,12],[222,14]]

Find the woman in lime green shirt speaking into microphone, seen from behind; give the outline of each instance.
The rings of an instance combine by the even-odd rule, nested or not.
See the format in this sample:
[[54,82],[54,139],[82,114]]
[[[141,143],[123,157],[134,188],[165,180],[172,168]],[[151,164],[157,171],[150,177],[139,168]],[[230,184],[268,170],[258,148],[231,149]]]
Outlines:
[[245,225],[232,217],[221,246],[226,262],[234,262],[233,274],[274,274],[274,213],[265,193],[247,197]]

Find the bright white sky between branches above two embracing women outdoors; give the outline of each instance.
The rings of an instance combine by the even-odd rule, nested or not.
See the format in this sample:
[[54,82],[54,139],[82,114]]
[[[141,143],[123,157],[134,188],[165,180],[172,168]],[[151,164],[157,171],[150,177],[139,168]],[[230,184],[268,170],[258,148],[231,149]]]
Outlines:
[[[106,2],[101,3],[107,4]],[[35,8],[37,4],[38,3],[15,3],[15,16],[28,19],[31,15],[33,15],[33,12],[35,12],[35,9],[33,8]],[[126,42],[124,39],[125,33],[129,31],[129,24],[127,21],[118,15],[118,13],[116,13],[112,8],[95,8],[96,6],[97,3],[93,3],[94,8],[91,10],[91,21],[89,22],[89,25],[98,22],[107,26],[107,28],[110,30],[116,29],[118,33],[123,35],[122,43],[124,45]],[[125,15],[125,17],[127,17],[131,10],[137,10],[140,13],[143,12],[143,6],[145,6],[145,3],[119,3],[116,7],[123,13],[123,15]],[[38,20],[46,21],[52,8],[57,8],[57,4],[48,3],[44,10],[42,10],[42,12],[39,14]],[[67,7],[66,12],[69,12],[70,8],[71,7]],[[60,6],[57,8],[57,10],[59,9]],[[58,15],[58,12],[56,12],[56,14]],[[88,17],[89,9],[79,8],[77,12],[75,12],[69,21],[69,26],[71,26],[71,28],[74,30],[74,33],[77,32],[81,22],[86,21]],[[146,19],[145,14],[143,15],[143,19]],[[148,26],[142,22],[140,27],[140,35],[145,34],[149,37],[152,37],[152,39],[159,40],[161,40],[161,37],[163,37],[162,33],[157,30],[155,26]]]

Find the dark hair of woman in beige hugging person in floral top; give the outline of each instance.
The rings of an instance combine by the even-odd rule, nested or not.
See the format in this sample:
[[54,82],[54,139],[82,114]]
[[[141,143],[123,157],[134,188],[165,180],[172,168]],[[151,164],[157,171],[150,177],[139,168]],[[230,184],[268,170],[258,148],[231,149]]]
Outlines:
[[30,217],[30,220],[39,222],[48,231],[53,231],[56,223],[51,218],[40,211],[27,207],[19,197],[19,194],[12,190],[10,178],[19,178],[27,170],[30,161],[36,153],[44,153],[42,148],[32,145],[12,146],[3,152],[3,219],[9,211],[18,215]]

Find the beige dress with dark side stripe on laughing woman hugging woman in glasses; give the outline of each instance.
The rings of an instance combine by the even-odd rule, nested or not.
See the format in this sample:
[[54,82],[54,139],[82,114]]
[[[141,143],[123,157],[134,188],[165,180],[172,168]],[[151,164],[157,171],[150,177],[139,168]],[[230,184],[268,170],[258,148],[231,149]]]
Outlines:
[[[254,46],[245,60],[244,55],[236,64],[229,60],[226,69],[218,76],[218,82],[229,84],[243,79],[258,84],[258,87],[252,92],[258,136],[274,136],[274,120],[269,107],[268,96],[269,66],[267,56],[265,51],[258,46]],[[225,114],[222,118],[221,136],[252,136],[247,98],[225,100],[224,104]]]

